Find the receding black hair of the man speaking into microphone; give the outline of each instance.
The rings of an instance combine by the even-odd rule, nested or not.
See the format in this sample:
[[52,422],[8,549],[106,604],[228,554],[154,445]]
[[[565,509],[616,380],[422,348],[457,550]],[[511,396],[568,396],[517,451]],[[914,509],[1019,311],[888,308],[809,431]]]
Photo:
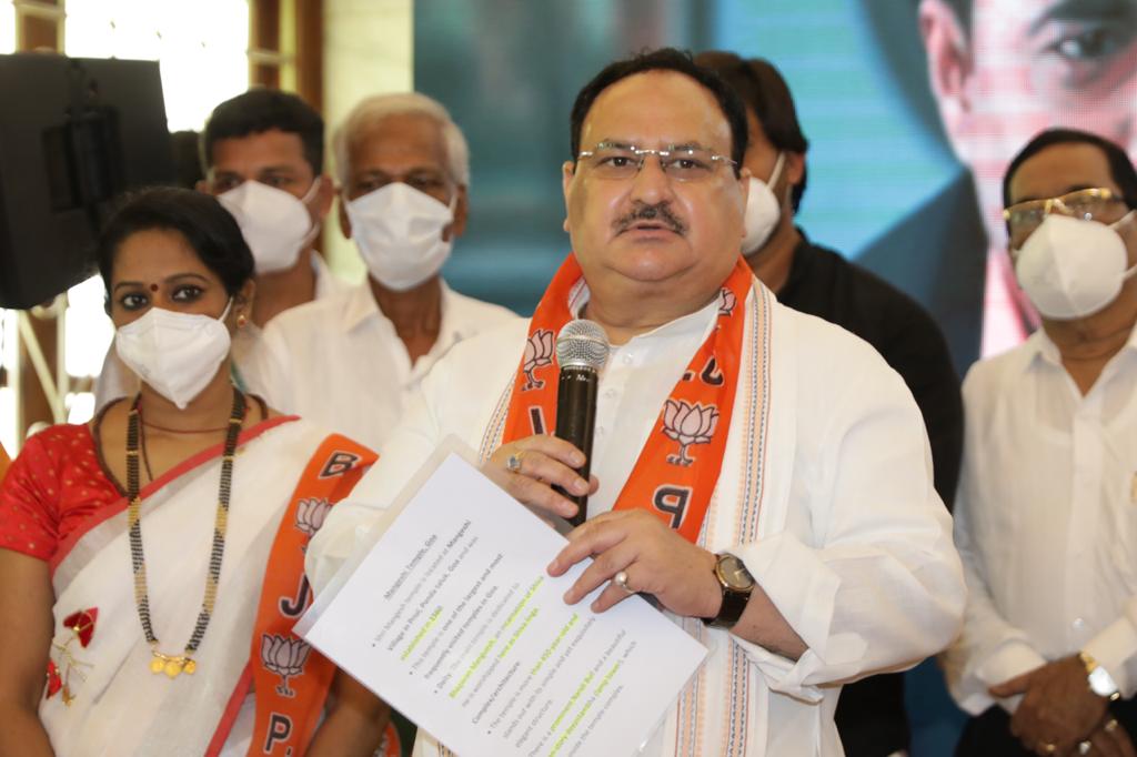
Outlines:
[[576,94],[576,101],[573,102],[572,116],[568,120],[572,159],[575,160],[576,156],[580,155],[580,132],[588,111],[591,110],[592,103],[600,95],[600,92],[623,78],[649,70],[673,70],[683,74],[694,78],[703,89],[714,95],[727,123],[730,124],[730,157],[736,164],[735,175],[738,175],[742,165],[742,156],[746,155],[746,110],[742,101],[713,72],[696,66],[690,52],[675,48],[659,48],[608,64],[604,70],[594,76],[581,89],[580,93]]

